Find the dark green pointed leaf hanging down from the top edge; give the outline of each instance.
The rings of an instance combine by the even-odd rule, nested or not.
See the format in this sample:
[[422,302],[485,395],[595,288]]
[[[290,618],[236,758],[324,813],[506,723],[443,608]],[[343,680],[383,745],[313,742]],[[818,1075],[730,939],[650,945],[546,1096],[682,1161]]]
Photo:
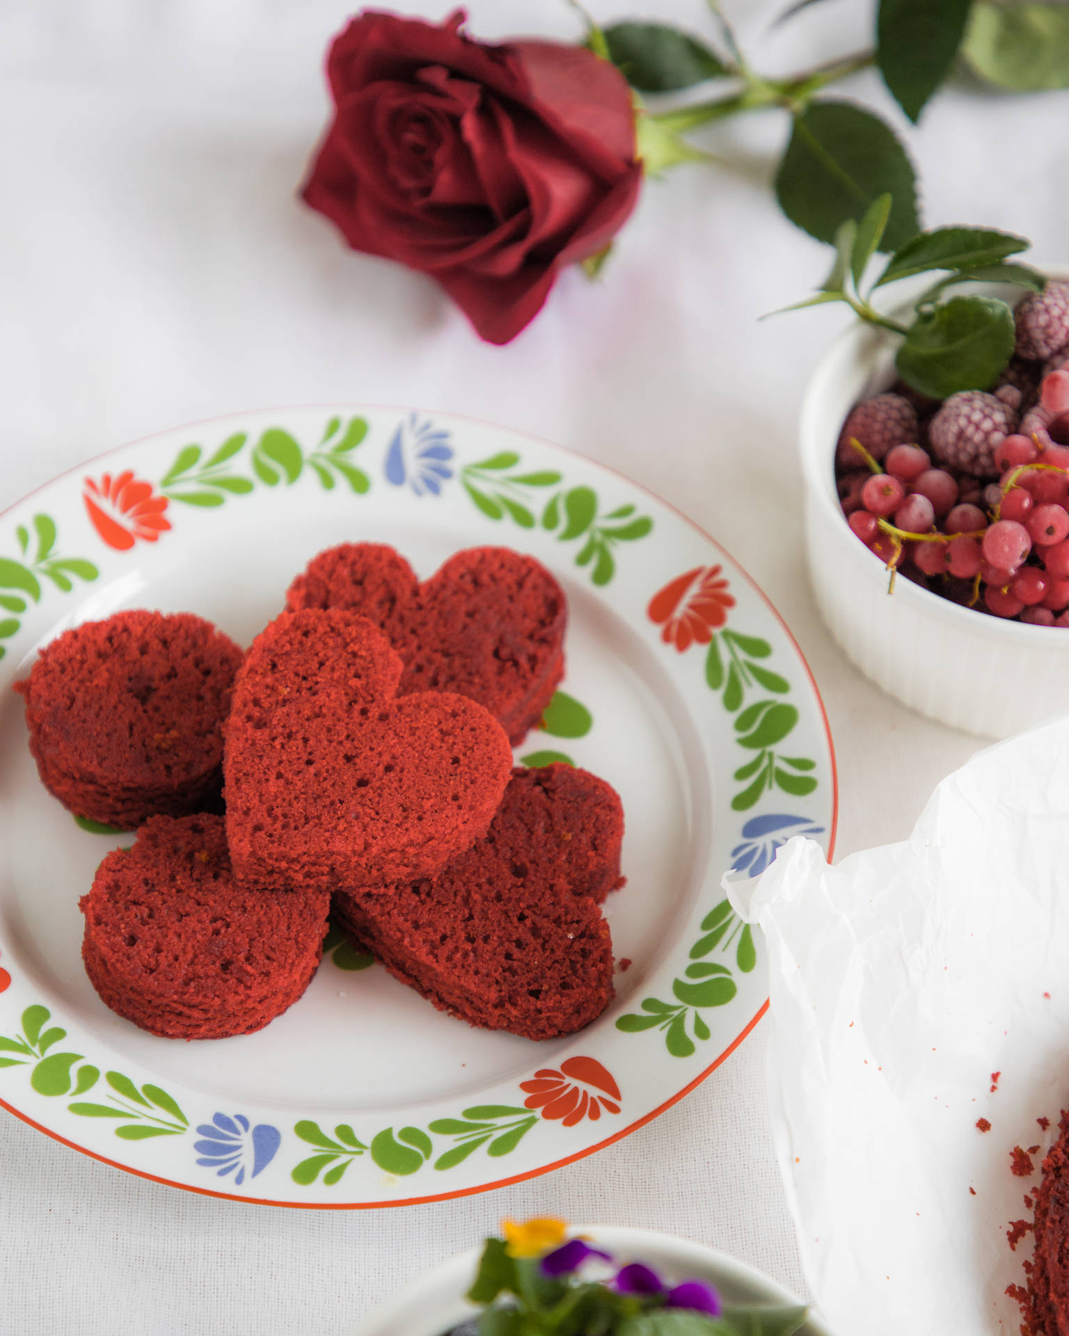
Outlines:
[[971,0],[879,0],[877,64],[910,120],[950,71]]

